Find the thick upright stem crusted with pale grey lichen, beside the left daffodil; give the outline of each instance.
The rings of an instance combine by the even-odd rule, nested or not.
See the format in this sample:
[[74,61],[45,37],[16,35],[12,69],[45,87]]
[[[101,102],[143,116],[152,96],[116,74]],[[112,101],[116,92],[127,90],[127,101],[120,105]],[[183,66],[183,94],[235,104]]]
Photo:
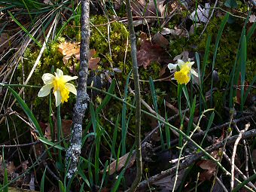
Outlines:
[[81,0],[81,47],[80,69],[78,73],[77,101],[73,112],[72,135],[69,149],[66,151],[66,164],[69,164],[67,177],[71,178],[77,171],[78,160],[81,154],[82,123],[84,112],[87,110],[89,96],[87,94],[88,57],[90,44],[90,1]]

